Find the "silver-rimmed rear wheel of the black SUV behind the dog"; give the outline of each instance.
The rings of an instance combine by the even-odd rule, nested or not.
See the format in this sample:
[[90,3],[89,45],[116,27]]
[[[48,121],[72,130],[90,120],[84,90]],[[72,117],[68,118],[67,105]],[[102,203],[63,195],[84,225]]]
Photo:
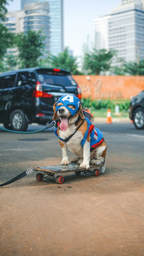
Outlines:
[[14,110],[10,114],[10,123],[13,131],[26,131],[28,127],[25,113],[21,109]]

